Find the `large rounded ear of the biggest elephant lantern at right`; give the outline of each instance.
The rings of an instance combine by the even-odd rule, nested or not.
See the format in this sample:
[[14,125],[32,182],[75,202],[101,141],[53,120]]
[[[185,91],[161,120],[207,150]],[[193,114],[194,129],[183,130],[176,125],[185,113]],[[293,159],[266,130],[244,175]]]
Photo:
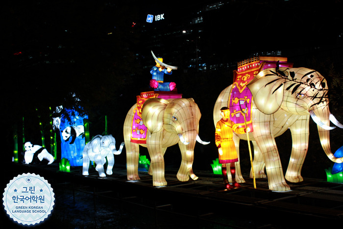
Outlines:
[[251,91],[256,107],[264,114],[276,112],[283,101],[285,78],[266,69],[260,72],[247,87]]

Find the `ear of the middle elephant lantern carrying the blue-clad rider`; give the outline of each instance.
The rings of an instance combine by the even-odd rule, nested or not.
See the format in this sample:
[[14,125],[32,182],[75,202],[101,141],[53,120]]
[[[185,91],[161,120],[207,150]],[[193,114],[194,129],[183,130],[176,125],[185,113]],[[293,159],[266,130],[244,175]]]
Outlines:
[[151,133],[158,132],[163,127],[163,114],[168,100],[151,98],[142,106],[142,120]]

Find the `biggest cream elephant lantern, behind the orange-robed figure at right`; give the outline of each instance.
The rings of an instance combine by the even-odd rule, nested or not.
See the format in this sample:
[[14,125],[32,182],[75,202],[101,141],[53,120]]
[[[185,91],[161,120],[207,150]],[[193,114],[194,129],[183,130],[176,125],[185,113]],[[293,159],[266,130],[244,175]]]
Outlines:
[[[241,70],[237,72],[237,77],[240,74],[241,78],[246,75],[245,67],[246,64],[239,67]],[[335,157],[330,150],[327,127],[330,120],[336,119],[329,111],[328,87],[323,76],[312,69],[285,68],[278,64],[271,69],[263,70],[260,67],[256,75],[252,76],[246,87],[252,95],[251,113],[248,115],[251,117],[252,128],[248,136],[254,146],[253,168],[256,178],[266,177],[266,169],[269,188],[273,191],[290,190],[285,178],[291,182],[303,180],[300,173],[308,149],[310,117],[317,123],[319,139],[328,158],[342,163],[342,157]],[[231,94],[233,87],[234,84],[225,88],[216,101],[215,124],[221,119],[220,108],[235,102],[235,96]],[[341,127],[337,120],[332,122]],[[283,134],[288,128],[292,134],[292,153],[284,176],[274,137]],[[239,140],[247,140],[247,135],[235,132],[233,139],[239,152]],[[236,168],[236,179],[244,182],[239,162],[236,162]]]

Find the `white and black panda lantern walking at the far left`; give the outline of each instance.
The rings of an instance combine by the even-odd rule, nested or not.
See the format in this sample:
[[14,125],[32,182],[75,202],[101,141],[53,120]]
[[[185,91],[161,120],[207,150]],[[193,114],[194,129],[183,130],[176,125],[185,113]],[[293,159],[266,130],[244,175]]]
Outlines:
[[31,142],[25,143],[25,164],[44,164],[43,160],[51,164],[54,159],[53,156],[42,146],[32,145]]

